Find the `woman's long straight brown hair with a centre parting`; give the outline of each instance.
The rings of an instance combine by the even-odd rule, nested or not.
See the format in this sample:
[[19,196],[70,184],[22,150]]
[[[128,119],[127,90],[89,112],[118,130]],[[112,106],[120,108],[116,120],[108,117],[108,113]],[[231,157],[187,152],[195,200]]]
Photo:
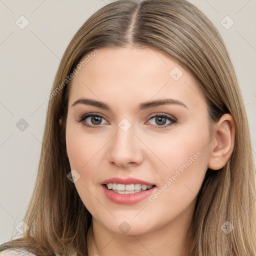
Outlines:
[[[74,250],[77,256],[87,255],[91,214],[67,178],[65,123],[70,81],[66,77],[85,54],[104,46],[127,45],[150,47],[174,58],[196,79],[210,124],[224,113],[230,113],[235,122],[229,160],[219,170],[207,170],[199,191],[188,233],[192,238],[189,254],[255,255],[255,166],[241,92],[221,36],[186,0],[118,0],[96,11],[75,33],[52,86],[38,174],[23,219],[29,229],[2,248],[25,248],[36,255],[70,255]],[[59,125],[61,117],[63,125]],[[228,234],[221,228],[226,221],[234,227]]]

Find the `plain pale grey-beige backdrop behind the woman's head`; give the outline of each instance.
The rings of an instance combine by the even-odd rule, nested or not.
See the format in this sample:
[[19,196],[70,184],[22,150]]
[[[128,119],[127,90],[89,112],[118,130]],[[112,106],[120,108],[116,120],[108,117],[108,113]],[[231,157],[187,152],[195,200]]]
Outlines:
[[[0,243],[12,234],[17,237],[15,226],[32,193],[48,106],[46,95],[62,54],[83,22],[109,2],[0,0]],[[255,157],[256,0],[191,2],[215,24],[230,53]]]

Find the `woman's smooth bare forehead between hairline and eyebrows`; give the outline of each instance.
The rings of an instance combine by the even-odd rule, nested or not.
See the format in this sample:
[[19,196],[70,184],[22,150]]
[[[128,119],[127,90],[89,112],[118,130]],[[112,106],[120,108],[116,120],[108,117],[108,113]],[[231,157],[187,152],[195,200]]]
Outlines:
[[205,104],[192,75],[160,51],[104,47],[87,55],[82,58],[86,64],[77,69],[72,80],[69,105],[79,97],[131,105],[166,96]]

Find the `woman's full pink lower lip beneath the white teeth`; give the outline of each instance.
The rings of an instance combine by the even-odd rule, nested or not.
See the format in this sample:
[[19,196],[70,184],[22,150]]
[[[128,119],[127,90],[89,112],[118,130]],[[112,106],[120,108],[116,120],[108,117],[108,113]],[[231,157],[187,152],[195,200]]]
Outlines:
[[140,191],[140,192],[135,192],[135,193],[130,193],[130,194],[119,194],[114,192],[111,189],[108,189],[106,186],[101,185],[103,187],[103,191],[106,195],[106,197],[115,203],[118,204],[133,204],[136,202],[139,202],[143,200],[144,198],[148,197],[155,189],[156,186],[153,186],[150,189]]

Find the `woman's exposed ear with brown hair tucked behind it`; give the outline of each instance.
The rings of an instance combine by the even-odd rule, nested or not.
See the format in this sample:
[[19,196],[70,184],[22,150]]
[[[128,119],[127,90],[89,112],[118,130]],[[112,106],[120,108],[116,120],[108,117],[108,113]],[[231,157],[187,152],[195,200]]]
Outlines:
[[214,124],[214,137],[211,140],[208,168],[217,170],[226,164],[234,148],[234,134],[233,117],[227,113],[223,114]]

